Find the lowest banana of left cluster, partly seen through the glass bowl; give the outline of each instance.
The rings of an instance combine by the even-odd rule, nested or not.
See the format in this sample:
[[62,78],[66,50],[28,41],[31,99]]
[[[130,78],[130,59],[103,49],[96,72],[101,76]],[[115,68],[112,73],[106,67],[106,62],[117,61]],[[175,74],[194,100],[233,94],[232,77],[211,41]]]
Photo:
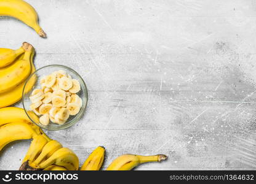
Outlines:
[[[34,57],[34,49],[32,51],[31,57],[30,57],[30,64],[31,64],[31,72],[30,75],[36,71],[34,64],[33,64],[33,57]],[[36,75],[33,75],[31,79],[26,83],[25,93],[28,93],[28,91],[33,88],[34,83],[36,83]],[[22,99],[22,91],[23,87],[25,85],[25,82],[20,83],[17,87],[14,89],[7,91],[5,93],[0,94],[0,108],[1,107],[7,107],[9,105],[14,104],[15,102],[18,102],[20,99]]]

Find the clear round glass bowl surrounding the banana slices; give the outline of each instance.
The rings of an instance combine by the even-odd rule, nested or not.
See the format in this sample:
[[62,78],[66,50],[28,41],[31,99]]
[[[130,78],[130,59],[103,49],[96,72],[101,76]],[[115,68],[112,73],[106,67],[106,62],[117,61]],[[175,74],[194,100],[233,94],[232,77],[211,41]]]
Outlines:
[[[63,123],[62,125],[58,125],[57,123],[50,122],[49,125],[45,126],[39,123],[38,115],[36,115],[36,113],[31,111],[30,109],[31,101],[29,97],[31,96],[31,93],[34,89],[41,88],[40,80],[42,79],[42,77],[52,74],[52,72],[59,71],[59,70],[65,71],[67,74],[71,75],[72,79],[76,79],[79,81],[81,85],[81,90],[76,94],[78,94],[78,96],[82,99],[82,107],[78,114],[74,116],[70,116],[70,118],[68,118],[68,120],[66,120],[66,122]],[[37,71],[35,71],[26,80],[26,83],[24,85],[23,92],[22,92],[22,104],[23,104],[23,108],[25,109],[26,115],[28,115],[30,120],[35,125],[38,125],[41,128],[49,129],[49,130],[65,129],[74,125],[74,123],[78,122],[78,120],[81,118],[82,114],[84,113],[84,110],[86,109],[87,99],[88,99],[88,93],[87,93],[86,83],[84,82],[82,77],[70,67],[66,67],[58,64],[44,66],[38,69]]]

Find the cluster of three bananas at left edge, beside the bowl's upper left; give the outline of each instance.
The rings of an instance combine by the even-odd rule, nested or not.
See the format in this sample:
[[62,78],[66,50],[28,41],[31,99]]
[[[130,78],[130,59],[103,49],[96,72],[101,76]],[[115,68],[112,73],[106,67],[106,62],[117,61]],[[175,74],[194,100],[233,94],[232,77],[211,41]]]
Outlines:
[[[36,71],[33,64],[34,48],[24,42],[17,50],[0,48],[0,108],[22,99],[25,80]],[[36,76],[28,82],[25,92],[33,88]]]

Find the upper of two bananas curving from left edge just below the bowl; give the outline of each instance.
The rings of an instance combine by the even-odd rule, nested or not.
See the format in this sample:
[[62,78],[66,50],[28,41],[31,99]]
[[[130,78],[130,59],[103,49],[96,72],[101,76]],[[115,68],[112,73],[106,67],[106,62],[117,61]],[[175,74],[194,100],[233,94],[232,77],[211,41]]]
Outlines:
[[[34,119],[38,118],[38,116],[36,116],[33,112],[28,112],[28,113],[30,113],[30,116],[34,115]],[[46,136],[46,134],[44,134],[44,132],[42,131],[41,128],[39,128],[39,126],[36,126],[31,122],[31,120],[26,115],[24,109],[18,108],[18,107],[0,108],[0,128],[2,125],[6,125],[8,123],[15,123],[15,122],[26,123],[28,126],[33,128],[37,134],[43,135],[44,137],[46,137],[48,141],[51,140],[49,137]]]

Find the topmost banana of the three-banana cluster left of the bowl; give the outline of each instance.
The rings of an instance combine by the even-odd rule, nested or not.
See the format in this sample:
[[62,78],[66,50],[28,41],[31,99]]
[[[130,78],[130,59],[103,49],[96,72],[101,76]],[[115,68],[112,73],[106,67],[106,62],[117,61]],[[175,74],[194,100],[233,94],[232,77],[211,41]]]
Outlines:
[[[26,45],[26,42],[24,42],[23,45]],[[18,48],[17,50],[12,50],[9,48],[0,48],[0,68],[12,64],[15,61],[15,59],[24,52],[25,50],[23,46]]]

